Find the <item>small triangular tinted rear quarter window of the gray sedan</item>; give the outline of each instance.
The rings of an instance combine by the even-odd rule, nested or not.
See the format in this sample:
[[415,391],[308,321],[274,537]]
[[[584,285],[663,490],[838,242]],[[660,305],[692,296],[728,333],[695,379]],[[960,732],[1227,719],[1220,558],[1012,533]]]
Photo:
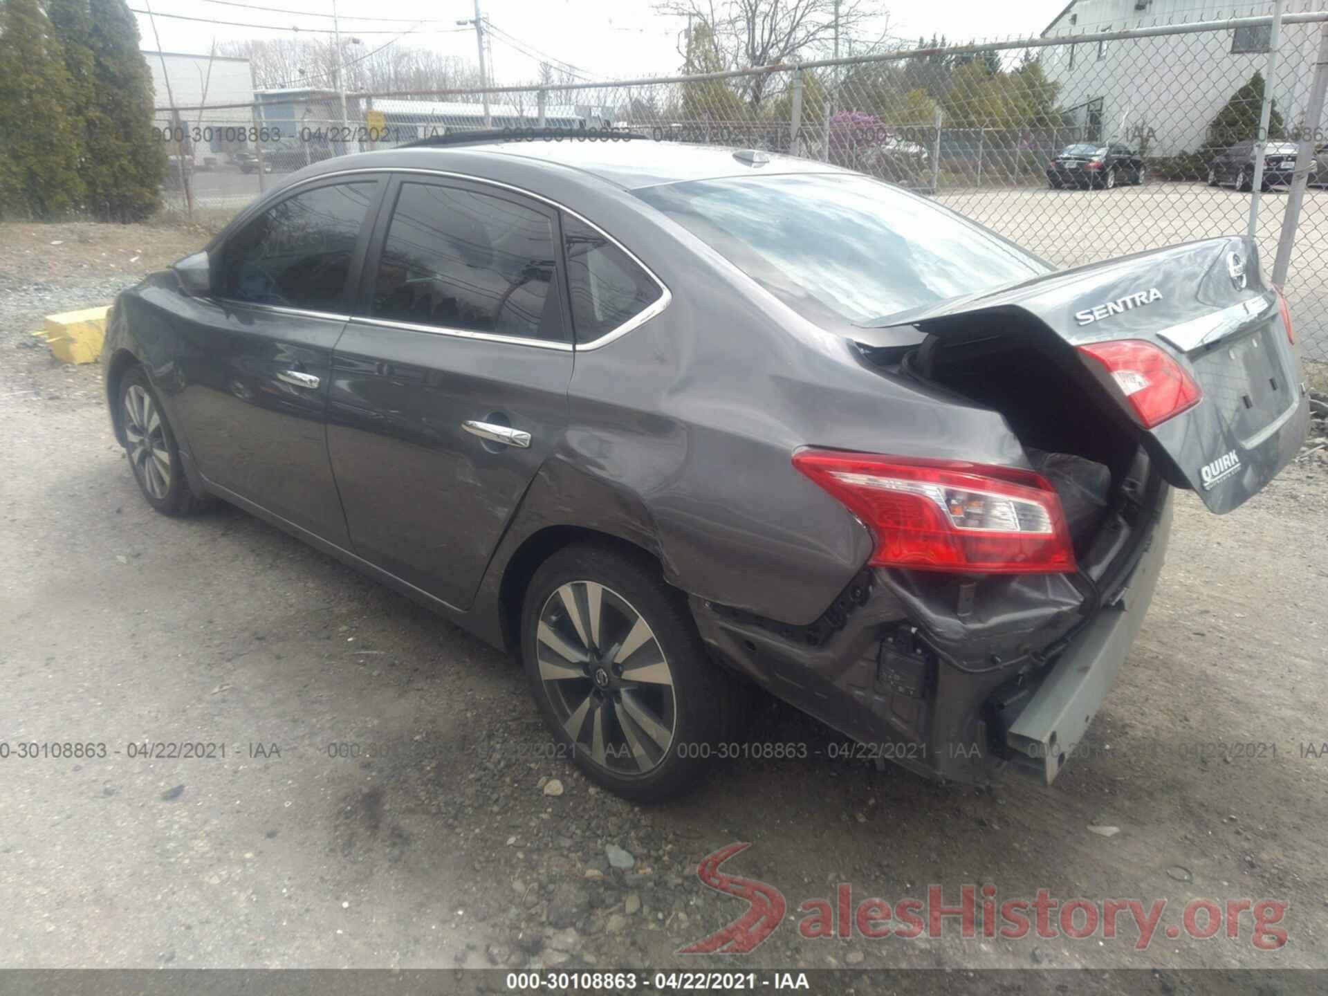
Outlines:
[[659,284],[584,222],[563,215],[563,242],[578,341],[612,332],[660,299]]

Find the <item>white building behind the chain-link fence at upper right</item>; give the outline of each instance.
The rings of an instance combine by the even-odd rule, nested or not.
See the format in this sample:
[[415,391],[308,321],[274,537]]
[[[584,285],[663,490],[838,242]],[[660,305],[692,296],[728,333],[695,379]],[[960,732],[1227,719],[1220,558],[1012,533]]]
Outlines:
[[[1286,3],[1284,13],[1305,9]],[[1042,37],[1093,35],[1163,24],[1271,15],[1272,4],[1230,0],[1074,0]],[[1303,122],[1319,24],[1284,24],[1272,97],[1288,127]],[[1195,151],[1208,122],[1250,77],[1264,72],[1270,29],[1163,35],[1054,45],[1041,50],[1057,104],[1070,109],[1082,141],[1142,145],[1149,155]],[[1251,135],[1252,137],[1252,135]]]

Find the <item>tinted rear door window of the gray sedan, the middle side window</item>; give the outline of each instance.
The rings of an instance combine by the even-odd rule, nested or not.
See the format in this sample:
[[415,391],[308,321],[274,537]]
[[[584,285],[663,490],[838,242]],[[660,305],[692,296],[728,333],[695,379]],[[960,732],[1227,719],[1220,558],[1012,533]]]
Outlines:
[[550,218],[514,201],[404,183],[373,315],[523,339],[562,339]]

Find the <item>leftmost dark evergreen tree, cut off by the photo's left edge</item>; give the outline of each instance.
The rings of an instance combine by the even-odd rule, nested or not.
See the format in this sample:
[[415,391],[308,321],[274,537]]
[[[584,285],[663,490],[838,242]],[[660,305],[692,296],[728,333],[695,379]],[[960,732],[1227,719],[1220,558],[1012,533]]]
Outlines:
[[69,74],[37,0],[0,8],[0,211],[46,218],[77,208],[78,134]]

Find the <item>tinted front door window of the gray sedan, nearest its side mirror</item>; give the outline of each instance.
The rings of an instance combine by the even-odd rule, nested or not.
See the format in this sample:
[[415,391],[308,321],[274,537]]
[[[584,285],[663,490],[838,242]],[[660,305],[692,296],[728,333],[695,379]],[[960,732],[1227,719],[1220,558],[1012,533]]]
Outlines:
[[309,311],[344,311],[351,258],[376,181],[290,197],[226,240],[223,297]]

